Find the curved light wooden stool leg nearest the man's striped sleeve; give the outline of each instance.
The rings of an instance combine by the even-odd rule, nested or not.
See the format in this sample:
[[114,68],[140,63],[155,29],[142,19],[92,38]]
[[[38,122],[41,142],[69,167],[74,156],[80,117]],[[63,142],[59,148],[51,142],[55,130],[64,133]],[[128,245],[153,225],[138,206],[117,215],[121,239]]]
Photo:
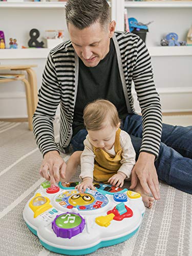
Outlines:
[[29,130],[33,130],[32,125],[32,117],[33,117],[33,108],[32,108],[32,100],[31,100],[31,89],[30,84],[27,79],[22,79],[22,81],[25,83],[25,91],[26,91],[26,101],[27,101],[27,114],[28,114],[28,122],[29,122]]

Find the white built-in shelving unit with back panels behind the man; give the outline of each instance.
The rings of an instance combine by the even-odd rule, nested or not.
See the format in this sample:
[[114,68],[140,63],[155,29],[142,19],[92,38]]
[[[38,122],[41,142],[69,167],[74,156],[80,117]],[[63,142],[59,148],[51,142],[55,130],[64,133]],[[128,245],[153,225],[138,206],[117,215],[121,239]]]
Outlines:
[[[192,25],[192,2],[127,2],[111,0],[112,19],[116,20],[116,30],[124,30],[124,8],[129,17],[150,24],[146,36],[146,46],[152,57],[154,78],[160,93],[162,109],[171,111],[192,111],[192,46],[162,47],[161,38],[169,32],[176,32],[179,40],[185,40]],[[48,48],[21,49],[29,40],[29,31],[36,28],[40,32],[38,41],[44,40],[48,29],[64,29],[65,39],[69,39],[65,20],[65,2],[0,2],[1,30],[9,38],[17,38],[19,49],[0,49],[2,65],[36,64],[38,87],[41,84]],[[46,44],[45,44],[46,47]],[[18,81],[19,82],[19,81]],[[0,87],[0,118],[26,117],[24,89],[7,83]],[[135,95],[135,99],[136,99]],[[185,99],[185,100],[183,100]],[[8,107],[9,106],[9,107]],[[13,108],[14,106],[14,108]],[[136,105],[138,110],[138,106]]]

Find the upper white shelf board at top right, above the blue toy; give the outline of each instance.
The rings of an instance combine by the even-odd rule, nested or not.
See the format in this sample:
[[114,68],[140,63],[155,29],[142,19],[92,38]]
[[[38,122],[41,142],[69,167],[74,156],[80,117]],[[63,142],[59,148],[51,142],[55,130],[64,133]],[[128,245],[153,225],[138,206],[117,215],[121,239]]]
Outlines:
[[134,8],[192,8],[191,2],[179,2],[179,1],[159,1],[159,2],[129,2],[125,1],[125,7],[134,7]]

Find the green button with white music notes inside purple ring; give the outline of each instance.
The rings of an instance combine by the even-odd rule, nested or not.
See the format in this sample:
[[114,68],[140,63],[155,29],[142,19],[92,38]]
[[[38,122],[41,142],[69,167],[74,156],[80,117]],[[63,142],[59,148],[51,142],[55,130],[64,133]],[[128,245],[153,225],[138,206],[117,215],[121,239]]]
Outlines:
[[80,225],[81,217],[75,214],[63,214],[60,215],[55,223],[58,227],[61,228],[74,228]]

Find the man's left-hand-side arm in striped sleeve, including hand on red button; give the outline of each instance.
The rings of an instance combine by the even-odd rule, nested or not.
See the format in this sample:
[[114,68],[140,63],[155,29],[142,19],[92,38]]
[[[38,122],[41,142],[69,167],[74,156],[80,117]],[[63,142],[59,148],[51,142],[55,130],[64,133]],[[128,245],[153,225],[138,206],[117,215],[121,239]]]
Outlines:
[[59,155],[53,129],[60,98],[61,90],[57,81],[55,64],[49,54],[38,92],[37,109],[33,115],[33,132],[39,150],[44,156],[39,173],[45,179],[50,180],[52,185],[55,185],[55,181],[59,181],[60,175],[65,178],[66,164]]

